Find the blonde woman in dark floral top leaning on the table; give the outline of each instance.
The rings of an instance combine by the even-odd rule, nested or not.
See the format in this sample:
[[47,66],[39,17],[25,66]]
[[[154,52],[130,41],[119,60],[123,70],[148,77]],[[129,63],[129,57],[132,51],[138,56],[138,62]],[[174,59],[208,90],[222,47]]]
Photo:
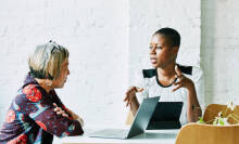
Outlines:
[[0,143],[50,144],[53,135],[83,134],[83,119],[66,108],[54,91],[63,88],[70,75],[68,51],[50,41],[36,48],[28,65],[30,71],[0,129]]

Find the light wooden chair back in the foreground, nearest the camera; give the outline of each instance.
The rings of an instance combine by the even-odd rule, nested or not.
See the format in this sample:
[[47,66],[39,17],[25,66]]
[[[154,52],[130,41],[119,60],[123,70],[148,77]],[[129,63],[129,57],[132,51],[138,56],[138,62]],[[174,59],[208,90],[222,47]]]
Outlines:
[[239,125],[213,126],[188,123],[176,138],[175,144],[239,144]]

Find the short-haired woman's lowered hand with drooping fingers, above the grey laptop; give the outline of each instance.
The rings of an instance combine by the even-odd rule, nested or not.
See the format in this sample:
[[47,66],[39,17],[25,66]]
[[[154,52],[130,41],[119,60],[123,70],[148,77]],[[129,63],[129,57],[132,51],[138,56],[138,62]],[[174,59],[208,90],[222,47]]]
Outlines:
[[137,92],[142,92],[142,88],[138,87],[130,87],[127,92],[125,93],[124,102],[126,102],[126,106],[131,105],[131,101],[136,97]]

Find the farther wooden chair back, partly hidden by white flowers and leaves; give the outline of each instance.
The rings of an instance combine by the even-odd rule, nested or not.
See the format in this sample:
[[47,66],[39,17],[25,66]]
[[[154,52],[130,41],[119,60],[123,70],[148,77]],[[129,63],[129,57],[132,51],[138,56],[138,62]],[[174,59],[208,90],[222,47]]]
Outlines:
[[[221,105],[221,104],[211,104],[211,105],[209,105],[205,108],[205,112],[204,112],[204,115],[203,115],[203,121],[205,121],[205,122],[209,121],[207,123],[212,123],[213,119],[216,116],[218,116],[218,113],[219,112],[225,113],[226,108],[227,108],[227,105]],[[230,113],[231,113],[231,110],[228,108],[225,115],[227,116]],[[235,107],[234,114],[239,116],[239,106],[238,105]],[[231,125],[237,123],[232,118],[229,118],[228,122],[231,123]]]

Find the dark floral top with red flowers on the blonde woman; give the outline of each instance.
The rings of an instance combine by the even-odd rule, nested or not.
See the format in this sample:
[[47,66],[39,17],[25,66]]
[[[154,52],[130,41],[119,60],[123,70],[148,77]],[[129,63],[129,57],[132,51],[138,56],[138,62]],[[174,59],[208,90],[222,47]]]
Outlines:
[[80,135],[80,123],[56,115],[53,103],[66,110],[55,91],[47,93],[28,74],[0,129],[0,144],[51,144],[59,138]]

